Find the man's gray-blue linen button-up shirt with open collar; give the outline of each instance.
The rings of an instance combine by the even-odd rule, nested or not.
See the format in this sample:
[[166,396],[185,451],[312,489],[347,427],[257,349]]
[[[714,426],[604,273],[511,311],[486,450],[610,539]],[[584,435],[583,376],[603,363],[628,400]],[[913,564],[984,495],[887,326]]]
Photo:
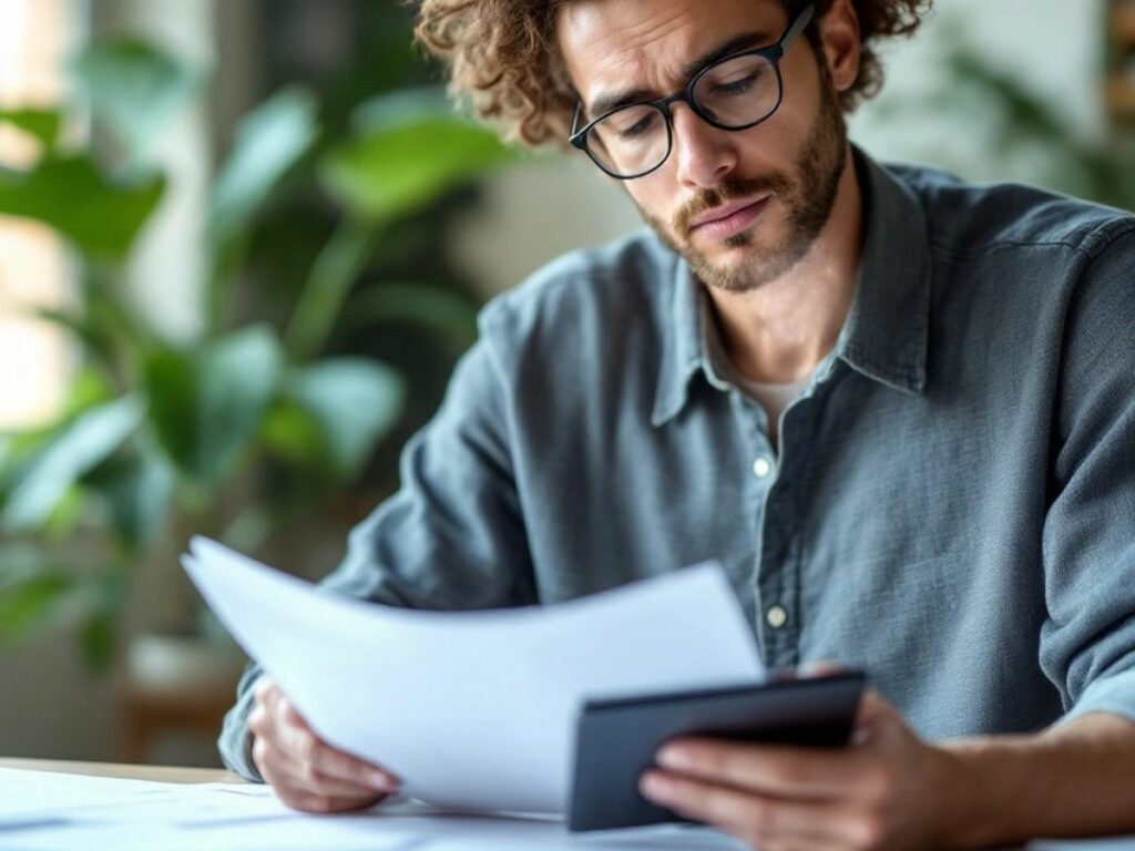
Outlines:
[[[717,558],[770,666],[861,667],[931,740],[1135,721],[1135,218],[857,167],[858,289],[779,454],[680,258],[573,253],[484,311],[327,584],[489,608]],[[253,778],[258,674],[220,739]]]

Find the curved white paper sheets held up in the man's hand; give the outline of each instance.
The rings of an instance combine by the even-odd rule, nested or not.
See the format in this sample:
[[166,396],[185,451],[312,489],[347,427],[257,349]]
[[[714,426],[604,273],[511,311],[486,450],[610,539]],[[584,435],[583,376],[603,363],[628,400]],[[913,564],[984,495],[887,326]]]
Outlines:
[[547,608],[397,609],[333,595],[194,539],[213,612],[331,744],[452,809],[562,814],[589,697],[758,682],[720,566]]

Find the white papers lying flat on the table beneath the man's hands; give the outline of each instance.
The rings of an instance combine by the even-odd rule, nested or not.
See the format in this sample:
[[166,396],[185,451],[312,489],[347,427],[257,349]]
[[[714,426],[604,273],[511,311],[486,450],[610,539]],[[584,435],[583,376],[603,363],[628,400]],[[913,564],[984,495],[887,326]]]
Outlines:
[[[572,835],[557,820],[443,814],[402,801],[310,816],[267,786],[180,785],[0,769],[5,851],[738,851],[714,831]],[[95,803],[96,802],[96,803]]]

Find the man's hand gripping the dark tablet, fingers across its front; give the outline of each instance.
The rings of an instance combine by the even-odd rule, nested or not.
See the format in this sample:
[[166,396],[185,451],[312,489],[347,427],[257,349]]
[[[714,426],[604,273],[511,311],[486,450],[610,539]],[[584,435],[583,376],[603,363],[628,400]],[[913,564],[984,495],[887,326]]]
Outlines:
[[949,845],[950,810],[967,791],[951,755],[874,692],[846,750],[684,739],[656,759],[642,794],[760,851]]

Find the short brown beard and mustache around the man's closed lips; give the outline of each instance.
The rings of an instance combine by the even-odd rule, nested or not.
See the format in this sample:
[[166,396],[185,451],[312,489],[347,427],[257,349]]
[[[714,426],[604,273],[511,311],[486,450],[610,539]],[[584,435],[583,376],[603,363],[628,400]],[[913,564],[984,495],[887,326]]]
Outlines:
[[[824,68],[826,70],[826,68]],[[726,293],[747,293],[780,278],[792,269],[815,243],[835,207],[840,177],[847,160],[847,124],[840,111],[830,77],[821,81],[819,115],[796,159],[796,178],[782,172],[747,178],[726,177],[718,188],[705,189],[691,199],[667,227],[639,205],[646,222],[663,243],[686,258],[703,284]],[[787,210],[787,231],[768,247],[757,246],[753,228],[722,241],[733,250],[748,250],[740,262],[715,263],[693,246],[693,219],[730,201],[759,194],[776,196]]]

